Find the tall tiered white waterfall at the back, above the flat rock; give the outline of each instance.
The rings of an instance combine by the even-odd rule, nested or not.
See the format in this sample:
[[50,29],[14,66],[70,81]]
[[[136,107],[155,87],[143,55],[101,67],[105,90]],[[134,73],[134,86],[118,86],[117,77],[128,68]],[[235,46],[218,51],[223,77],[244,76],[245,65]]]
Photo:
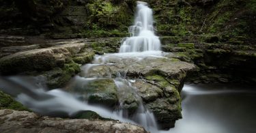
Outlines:
[[126,38],[119,53],[160,50],[160,40],[154,34],[153,12],[147,3],[138,1],[134,25],[129,27],[130,38]]

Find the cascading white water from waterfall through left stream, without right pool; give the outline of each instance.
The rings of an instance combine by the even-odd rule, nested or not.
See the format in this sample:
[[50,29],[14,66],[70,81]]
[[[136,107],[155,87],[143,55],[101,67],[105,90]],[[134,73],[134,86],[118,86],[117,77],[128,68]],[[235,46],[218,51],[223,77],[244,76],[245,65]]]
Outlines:
[[[60,89],[46,91],[44,87],[38,87],[33,80],[27,80],[24,77],[10,77],[7,80],[0,77],[0,88],[6,93],[16,96],[16,100],[42,115],[58,117],[64,114],[72,116],[80,110],[92,110],[102,117],[143,125],[150,132],[158,132],[158,126],[153,113],[143,105],[143,101],[137,94],[137,88],[132,87],[132,81],[125,78],[126,70],[122,70],[124,72],[123,76],[120,76],[119,72],[113,75],[110,72],[101,73],[94,70],[100,66],[104,68],[106,65],[115,65],[117,60],[131,60],[128,62],[132,63],[147,57],[162,57],[160,40],[158,36],[154,35],[153,23],[152,10],[147,7],[147,3],[137,2],[135,22],[133,26],[129,27],[131,37],[126,38],[120,47],[119,53],[97,55],[93,63],[81,67],[82,72],[80,76],[75,76],[68,85],[68,87],[81,87],[94,80],[112,79],[119,93],[133,93],[137,100],[139,100],[139,107],[132,115],[125,113],[126,110],[122,106],[122,101],[119,101],[119,108],[111,112],[111,110],[88,104],[86,96],[82,98],[85,101],[81,101],[81,98],[77,98],[77,96],[81,96],[79,91],[73,94],[66,93]],[[134,54],[135,52],[136,54]],[[16,89],[14,90],[14,88]]]

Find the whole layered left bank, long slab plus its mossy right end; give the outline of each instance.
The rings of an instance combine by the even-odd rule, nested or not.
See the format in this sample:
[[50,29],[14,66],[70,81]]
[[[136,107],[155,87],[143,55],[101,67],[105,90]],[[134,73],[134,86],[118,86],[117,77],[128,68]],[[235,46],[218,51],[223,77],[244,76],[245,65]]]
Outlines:
[[0,40],[1,75],[44,76],[50,88],[63,87],[80,72],[79,64],[89,63],[95,55],[85,40],[12,35],[3,35]]

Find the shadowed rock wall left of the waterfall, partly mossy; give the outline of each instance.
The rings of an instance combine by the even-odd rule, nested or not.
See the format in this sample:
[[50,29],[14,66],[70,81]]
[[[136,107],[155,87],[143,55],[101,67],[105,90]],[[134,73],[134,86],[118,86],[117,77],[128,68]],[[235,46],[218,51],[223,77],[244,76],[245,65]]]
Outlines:
[[126,36],[134,1],[1,1],[1,31],[59,38]]

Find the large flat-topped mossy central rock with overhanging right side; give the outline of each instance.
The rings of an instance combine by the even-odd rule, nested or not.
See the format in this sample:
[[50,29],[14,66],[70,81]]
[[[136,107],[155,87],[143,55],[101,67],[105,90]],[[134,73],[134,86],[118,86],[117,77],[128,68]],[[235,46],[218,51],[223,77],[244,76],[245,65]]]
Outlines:
[[[129,115],[137,110],[137,101],[142,99],[145,106],[154,113],[161,129],[174,127],[175,121],[182,118],[180,91],[184,79],[187,74],[196,70],[195,65],[174,59],[172,57],[175,55],[171,54],[165,57],[141,57],[141,59],[117,57],[118,55],[106,56],[106,58],[104,55],[96,58],[94,64],[82,67],[81,76],[99,79],[115,78],[118,86],[119,76],[125,75],[127,80],[132,80],[129,82],[137,95],[127,91],[132,90],[126,88],[129,86],[122,85],[117,87],[117,98],[119,103],[128,109]],[[119,91],[119,88],[123,90]]]

